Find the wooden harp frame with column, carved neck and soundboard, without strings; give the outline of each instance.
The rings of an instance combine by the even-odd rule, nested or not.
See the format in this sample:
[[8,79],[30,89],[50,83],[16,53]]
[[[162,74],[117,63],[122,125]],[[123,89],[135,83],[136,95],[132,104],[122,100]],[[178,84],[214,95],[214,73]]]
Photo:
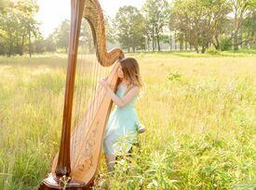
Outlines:
[[[43,180],[39,189],[61,189],[63,176],[66,176],[64,179],[68,179],[68,182],[66,182],[67,189],[88,189],[100,160],[104,127],[112,107],[112,100],[106,95],[102,87],[98,88],[88,107],[88,110],[93,107],[93,111],[84,115],[82,120],[74,126],[74,132],[71,135],[74,78],[81,20],[83,18],[88,20],[96,47],[96,56],[101,66],[109,67],[115,64],[118,58],[124,57],[122,50],[119,48],[115,48],[110,52],[106,51],[104,19],[98,0],[71,0],[71,10],[71,32],[61,146],[59,154],[54,158],[51,173],[47,179]],[[117,65],[109,74],[108,82],[115,91],[118,83]],[[74,136],[79,136],[78,140]],[[74,151],[74,148],[76,151]]]

